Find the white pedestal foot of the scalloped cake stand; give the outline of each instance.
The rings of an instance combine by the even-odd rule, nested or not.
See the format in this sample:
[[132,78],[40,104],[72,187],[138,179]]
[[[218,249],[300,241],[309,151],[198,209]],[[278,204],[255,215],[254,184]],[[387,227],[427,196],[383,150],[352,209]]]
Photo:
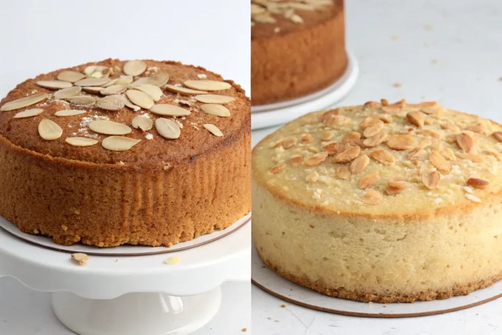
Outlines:
[[186,297],[128,293],[107,300],[52,293],[54,313],[80,335],[187,335],[209,322],[220,302],[219,287]]

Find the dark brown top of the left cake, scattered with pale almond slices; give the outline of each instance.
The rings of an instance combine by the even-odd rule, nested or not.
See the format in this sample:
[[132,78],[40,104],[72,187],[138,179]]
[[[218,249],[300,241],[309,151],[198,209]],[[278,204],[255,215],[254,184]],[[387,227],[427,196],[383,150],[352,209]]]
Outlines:
[[240,86],[172,61],[60,69],[26,80],[0,102],[4,140],[89,163],[169,166],[241,132],[250,132],[250,99]]

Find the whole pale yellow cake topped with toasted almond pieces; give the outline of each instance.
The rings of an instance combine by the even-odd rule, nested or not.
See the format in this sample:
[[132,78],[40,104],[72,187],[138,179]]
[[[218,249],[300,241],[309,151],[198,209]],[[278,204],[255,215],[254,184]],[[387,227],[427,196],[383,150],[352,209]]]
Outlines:
[[287,279],[359,301],[502,278],[502,127],[437,102],[307,114],[253,150],[253,236]]

